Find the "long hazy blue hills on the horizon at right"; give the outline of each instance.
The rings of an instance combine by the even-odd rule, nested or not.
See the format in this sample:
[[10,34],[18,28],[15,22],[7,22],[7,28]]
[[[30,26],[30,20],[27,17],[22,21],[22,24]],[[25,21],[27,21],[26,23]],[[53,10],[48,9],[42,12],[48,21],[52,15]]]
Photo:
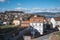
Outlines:
[[60,17],[60,12],[56,12],[56,13],[53,13],[53,12],[37,12],[37,13],[33,13],[33,14],[42,15],[45,17]]

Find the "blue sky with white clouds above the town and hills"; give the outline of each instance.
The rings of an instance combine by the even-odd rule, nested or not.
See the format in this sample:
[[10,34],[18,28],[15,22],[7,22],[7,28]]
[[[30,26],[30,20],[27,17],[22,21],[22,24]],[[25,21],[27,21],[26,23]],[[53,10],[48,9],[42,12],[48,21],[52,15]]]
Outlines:
[[60,0],[0,0],[1,11],[60,12]]

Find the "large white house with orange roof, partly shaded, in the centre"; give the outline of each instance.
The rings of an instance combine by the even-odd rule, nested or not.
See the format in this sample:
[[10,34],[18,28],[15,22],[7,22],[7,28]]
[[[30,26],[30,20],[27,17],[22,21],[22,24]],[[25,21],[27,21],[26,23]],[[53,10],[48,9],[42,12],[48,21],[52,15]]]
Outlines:
[[[44,17],[39,15],[34,15],[30,18],[30,26],[36,29],[41,35],[43,35],[43,22]],[[33,32],[32,32],[33,34]]]

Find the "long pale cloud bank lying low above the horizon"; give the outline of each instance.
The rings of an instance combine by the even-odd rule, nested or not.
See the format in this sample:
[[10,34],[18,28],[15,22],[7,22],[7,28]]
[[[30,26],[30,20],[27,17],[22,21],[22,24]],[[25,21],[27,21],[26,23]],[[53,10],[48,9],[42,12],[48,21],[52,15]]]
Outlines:
[[[2,9],[4,10],[4,9]],[[16,7],[14,9],[8,9],[8,10],[15,10],[15,11],[24,11],[26,13],[35,13],[35,12],[60,12],[60,7],[57,8],[22,8],[22,7]]]

